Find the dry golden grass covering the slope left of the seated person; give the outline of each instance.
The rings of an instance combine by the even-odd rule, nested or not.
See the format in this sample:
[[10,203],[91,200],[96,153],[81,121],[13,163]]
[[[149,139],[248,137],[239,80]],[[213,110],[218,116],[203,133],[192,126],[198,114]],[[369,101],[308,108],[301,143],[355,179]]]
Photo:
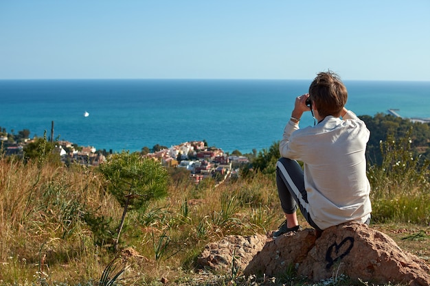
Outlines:
[[[117,257],[111,238],[122,215],[100,178],[87,167],[0,158],[1,285],[98,283]],[[282,217],[271,176],[256,174],[218,187],[213,180],[199,186],[171,182],[168,198],[126,218],[120,246],[134,255],[123,282],[158,285],[164,277],[206,285],[193,280],[205,244],[225,235],[266,233]],[[417,227],[428,231],[425,225]],[[215,278],[213,283],[225,281]]]

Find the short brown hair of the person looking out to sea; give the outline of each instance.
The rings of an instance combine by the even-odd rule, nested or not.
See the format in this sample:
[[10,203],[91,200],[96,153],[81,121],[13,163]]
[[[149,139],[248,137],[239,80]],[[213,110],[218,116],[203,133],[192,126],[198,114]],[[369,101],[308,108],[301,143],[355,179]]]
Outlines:
[[321,72],[309,86],[309,96],[321,117],[339,116],[348,99],[348,91],[339,75]]

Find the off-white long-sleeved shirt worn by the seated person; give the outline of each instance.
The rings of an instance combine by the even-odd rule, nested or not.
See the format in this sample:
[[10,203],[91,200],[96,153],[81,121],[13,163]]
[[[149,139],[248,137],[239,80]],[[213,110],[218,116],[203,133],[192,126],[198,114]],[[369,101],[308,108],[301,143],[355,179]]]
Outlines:
[[288,121],[280,154],[304,163],[308,212],[319,228],[365,222],[372,212],[365,149],[370,131],[348,110],[343,119],[328,116],[299,129]]

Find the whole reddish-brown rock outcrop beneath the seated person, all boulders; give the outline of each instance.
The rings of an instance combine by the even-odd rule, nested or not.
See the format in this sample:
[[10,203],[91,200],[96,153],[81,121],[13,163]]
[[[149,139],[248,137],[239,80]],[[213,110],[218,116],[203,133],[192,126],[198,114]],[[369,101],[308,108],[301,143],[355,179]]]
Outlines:
[[321,237],[313,229],[277,239],[226,237],[206,246],[199,263],[231,270],[233,255],[247,276],[276,276],[295,269],[310,281],[345,274],[375,283],[430,285],[430,267],[424,261],[403,252],[387,235],[354,222],[328,228]]

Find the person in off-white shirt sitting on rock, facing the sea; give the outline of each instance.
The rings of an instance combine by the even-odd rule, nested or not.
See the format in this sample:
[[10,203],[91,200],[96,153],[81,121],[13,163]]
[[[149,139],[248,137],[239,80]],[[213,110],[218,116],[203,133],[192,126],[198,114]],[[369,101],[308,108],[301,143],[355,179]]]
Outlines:
[[[345,222],[370,224],[370,184],[365,149],[370,132],[344,106],[346,87],[331,71],[318,73],[309,93],[295,99],[280,141],[276,183],[285,222],[273,237],[299,230],[297,206],[318,232]],[[313,112],[318,123],[299,129]],[[303,162],[303,169],[296,160]]]

